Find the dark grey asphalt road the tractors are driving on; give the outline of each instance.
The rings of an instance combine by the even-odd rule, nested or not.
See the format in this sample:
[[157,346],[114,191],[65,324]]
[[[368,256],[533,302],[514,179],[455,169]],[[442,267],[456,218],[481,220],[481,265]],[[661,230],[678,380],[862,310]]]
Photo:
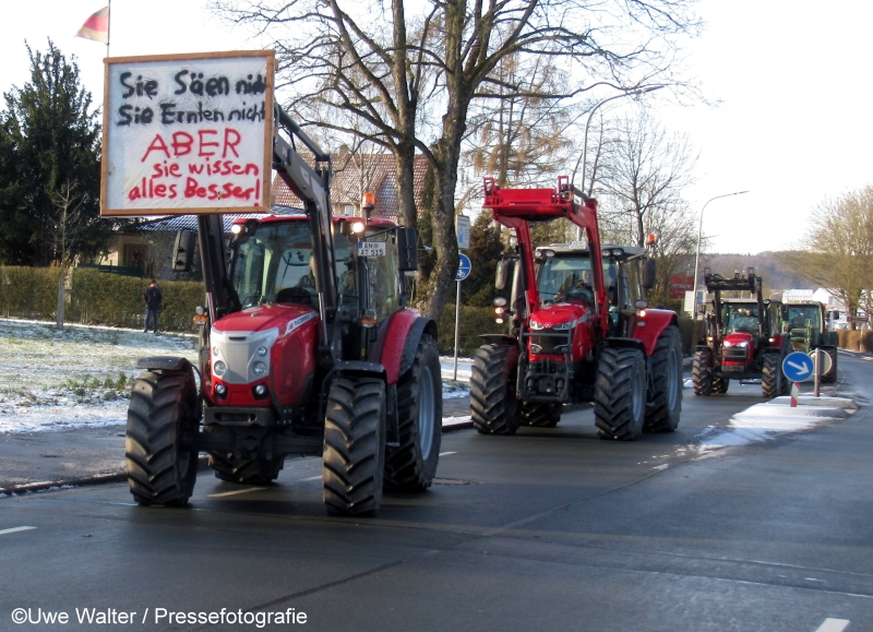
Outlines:
[[[840,368],[865,403],[873,362]],[[374,520],[324,515],[314,458],[266,488],[201,473],[184,509],[139,508],[122,484],[0,499],[0,630],[256,630],[267,616],[297,617],[270,630],[873,629],[866,408],[701,450],[761,401],[758,385],[686,390],[679,430],[633,443],[599,441],[589,408],[516,437],[452,432],[436,485],[386,496]],[[70,623],[15,624],[16,608]],[[80,624],[76,608],[113,622]],[[251,623],[196,621],[223,608]]]

